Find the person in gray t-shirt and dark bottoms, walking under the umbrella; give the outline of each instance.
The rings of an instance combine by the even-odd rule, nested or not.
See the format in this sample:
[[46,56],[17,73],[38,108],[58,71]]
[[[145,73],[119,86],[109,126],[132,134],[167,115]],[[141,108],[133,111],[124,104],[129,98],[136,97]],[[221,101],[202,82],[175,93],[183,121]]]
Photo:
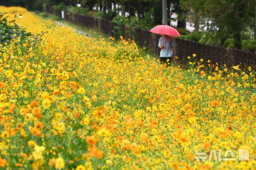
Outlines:
[[[162,37],[159,39],[158,47],[161,49],[160,62],[167,63],[170,66],[172,58],[177,57],[176,53],[176,42],[172,36],[161,34]],[[169,59],[169,61],[167,61]]]

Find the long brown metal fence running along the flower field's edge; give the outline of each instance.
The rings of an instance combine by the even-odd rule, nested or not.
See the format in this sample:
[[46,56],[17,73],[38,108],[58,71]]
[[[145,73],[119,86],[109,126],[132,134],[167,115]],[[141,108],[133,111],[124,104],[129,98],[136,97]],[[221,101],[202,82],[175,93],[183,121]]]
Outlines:
[[[61,12],[54,10],[53,6],[47,6],[46,11],[57,16],[61,15]],[[81,26],[92,27],[101,30],[102,32],[114,36],[112,30],[114,29],[113,23],[106,19],[84,16],[77,13],[64,10],[64,18],[66,21],[70,21]],[[128,34],[126,31],[129,31]],[[161,37],[159,34],[151,33],[148,30],[142,30],[134,28],[134,32],[131,33],[131,28],[123,26],[123,37],[125,39],[133,39],[137,44],[149,47],[154,53],[160,53],[158,48],[158,40]],[[177,56],[180,59],[187,60],[187,56],[196,54],[196,58],[204,58],[205,61],[210,60],[212,63],[218,63],[219,66],[226,66],[228,68],[232,66],[240,65],[256,65],[256,53],[249,51],[231,49],[225,47],[211,46],[205,44],[199,44],[198,42],[192,42],[175,38]]]

